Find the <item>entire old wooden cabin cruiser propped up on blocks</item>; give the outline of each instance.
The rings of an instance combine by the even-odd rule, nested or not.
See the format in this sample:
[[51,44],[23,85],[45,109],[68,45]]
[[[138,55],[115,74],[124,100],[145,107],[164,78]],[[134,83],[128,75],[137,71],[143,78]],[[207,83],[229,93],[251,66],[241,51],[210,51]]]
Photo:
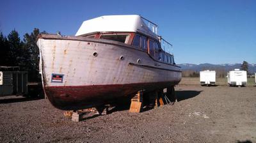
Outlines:
[[40,73],[54,107],[79,110],[181,80],[172,44],[140,15],[106,15],[83,22],[75,36],[40,33]]

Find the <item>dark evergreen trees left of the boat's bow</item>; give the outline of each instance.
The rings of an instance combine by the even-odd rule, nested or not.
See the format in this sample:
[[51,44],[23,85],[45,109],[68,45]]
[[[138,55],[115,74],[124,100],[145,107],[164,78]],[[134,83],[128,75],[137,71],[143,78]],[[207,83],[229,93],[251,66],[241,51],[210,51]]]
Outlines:
[[24,34],[23,40],[19,33],[10,32],[8,36],[0,33],[0,66],[19,66],[20,71],[28,72],[29,82],[40,81],[39,75],[39,49],[36,45],[36,38],[40,33],[35,28],[32,33]]

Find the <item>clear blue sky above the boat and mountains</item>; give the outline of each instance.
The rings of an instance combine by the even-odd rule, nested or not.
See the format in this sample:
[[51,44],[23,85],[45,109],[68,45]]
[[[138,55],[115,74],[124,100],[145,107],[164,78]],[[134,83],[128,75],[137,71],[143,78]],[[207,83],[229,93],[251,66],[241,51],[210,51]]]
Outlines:
[[33,29],[74,35],[84,20],[141,15],[173,45],[175,63],[256,63],[255,0],[0,0],[0,31],[23,39]]

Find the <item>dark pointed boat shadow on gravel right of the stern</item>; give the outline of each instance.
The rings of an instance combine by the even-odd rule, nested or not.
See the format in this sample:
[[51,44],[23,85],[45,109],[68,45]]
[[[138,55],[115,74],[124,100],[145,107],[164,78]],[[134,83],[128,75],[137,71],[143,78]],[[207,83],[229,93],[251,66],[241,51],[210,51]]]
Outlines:
[[202,91],[175,91],[177,102],[198,96]]

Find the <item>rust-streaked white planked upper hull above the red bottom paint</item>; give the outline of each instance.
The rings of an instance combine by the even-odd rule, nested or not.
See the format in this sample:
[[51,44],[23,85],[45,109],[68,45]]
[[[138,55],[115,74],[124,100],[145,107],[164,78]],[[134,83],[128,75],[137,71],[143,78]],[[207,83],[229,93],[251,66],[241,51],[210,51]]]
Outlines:
[[[38,45],[44,60],[45,86],[88,86],[104,84],[132,84],[139,82],[179,81],[180,70],[170,64],[154,61],[147,53],[91,41],[44,40]],[[97,57],[93,53],[97,52]],[[123,56],[124,60],[120,60]],[[140,63],[138,63],[140,59]],[[142,68],[129,63],[149,65]],[[157,66],[156,66],[157,64]],[[157,70],[165,68],[168,70]],[[63,82],[51,82],[52,73],[63,74]]]

